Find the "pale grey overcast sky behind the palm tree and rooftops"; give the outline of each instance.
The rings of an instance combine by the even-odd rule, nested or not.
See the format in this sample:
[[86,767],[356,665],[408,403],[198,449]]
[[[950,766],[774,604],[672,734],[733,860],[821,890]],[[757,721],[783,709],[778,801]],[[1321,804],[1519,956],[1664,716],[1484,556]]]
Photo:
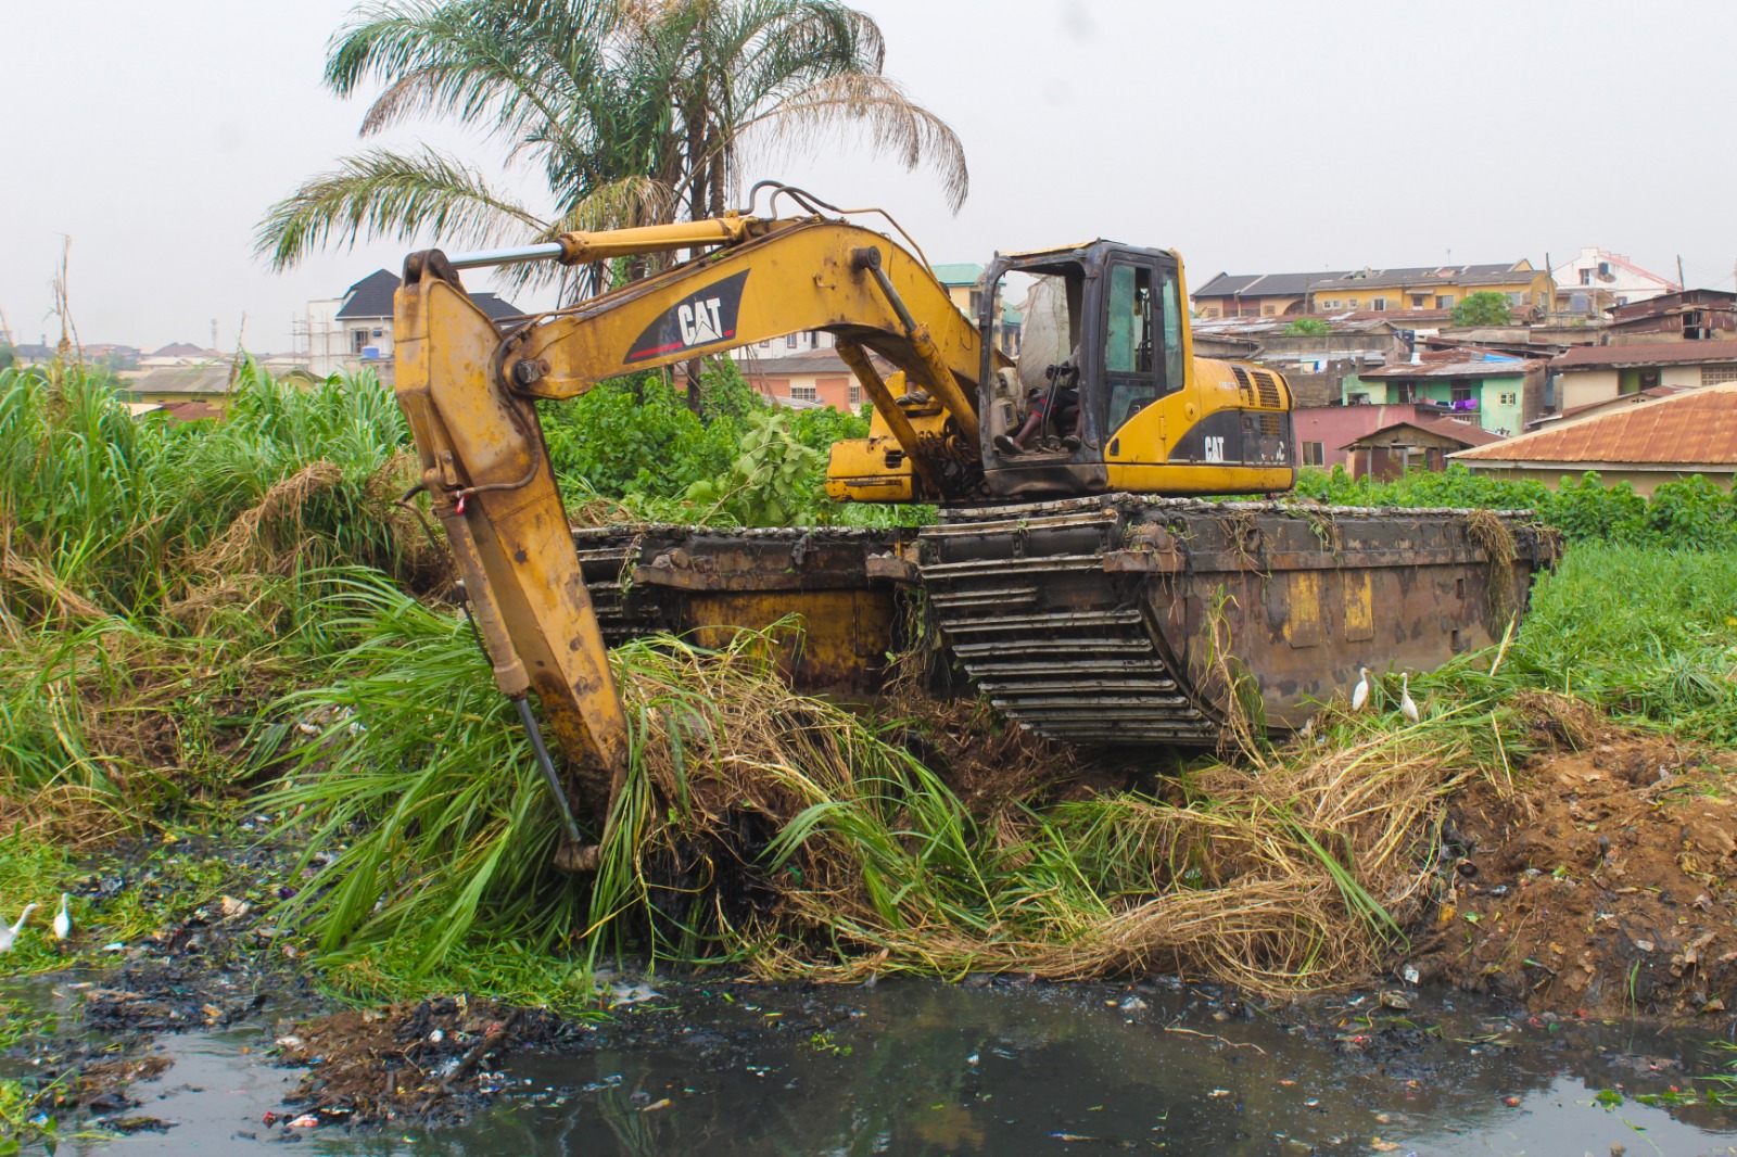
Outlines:
[[[835,203],[879,203],[931,261],[1091,236],[1214,273],[1515,261],[1582,245],[1732,287],[1737,5],[865,0],[888,73],[964,139],[971,196],[851,141],[768,162]],[[274,274],[266,207],[356,148],[363,101],[320,85],[353,0],[0,0],[0,311],[57,335],[73,238],[85,342],[290,346],[316,297],[412,245]],[[410,127],[493,167],[450,127]],[[540,203],[535,174],[509,184]],[[438,238],[427,238],[434,241]],[[519,304],[535,304],[525,302]]]

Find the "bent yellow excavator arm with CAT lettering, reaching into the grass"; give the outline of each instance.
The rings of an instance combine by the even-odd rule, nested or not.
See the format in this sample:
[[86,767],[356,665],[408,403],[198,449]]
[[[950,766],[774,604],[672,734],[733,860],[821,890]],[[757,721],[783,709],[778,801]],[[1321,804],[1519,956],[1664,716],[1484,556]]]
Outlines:
[[[710,252],[505,335],[457,273],[526,254],[571,264],[677,248]],[[978,332],[917,257],[870,229],[728,215],[565,235],[535,252],[448,261],[427,250],[405,262],[394,389],[415,434],[422,485],[452,542],[497,684],[521,704],[526,723],[523,704],[530,691],[538,695],[592,815],[610,815],[625,775],[627,721],[535,401],[577,398],[610,377],[801,330],[837,337],[839,354],[931,493],[945,485],[948,464],[976,459]],[[893,363],[908,387],[926,389],[940,417],[919,429],[867,351]]]

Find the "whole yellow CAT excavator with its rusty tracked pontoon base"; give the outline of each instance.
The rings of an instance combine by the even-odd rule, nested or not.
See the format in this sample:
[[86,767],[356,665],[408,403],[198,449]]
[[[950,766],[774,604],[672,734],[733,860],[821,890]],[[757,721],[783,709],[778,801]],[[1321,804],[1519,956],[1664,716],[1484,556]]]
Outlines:
[[[1211,745],[1235,711],[1301,726],[1360,667],[1433,669],[1492,643],[1553,558],[1523,512],[1284,499],[1291,391],[1270,370],[1193,354],[1174,252],[1100,240],[997,255],[969,318],[908,236],[771,188],[763,217],[405,261],[396,396],[495,679],[561,801],[565,867],[596,850],[580,848],[526,697],[542,700],[580,806],[606,817],[627,764],[606,650],[634,634],[705,639],[794,613],[806,629],[783,657],[790,678],[872,691],[905,598],[1021,726]],[[804,212],[778,217],[780,196]],[[681,252],[610,294],[499,325],[460,283],[469,268]],[[1014,294],[1018,334],[1004,325]],[[874,405],[868,436],[832,448],[830,497],[935,504],[933,525],[568,525],[538,401],[797,332],[829,334]]]

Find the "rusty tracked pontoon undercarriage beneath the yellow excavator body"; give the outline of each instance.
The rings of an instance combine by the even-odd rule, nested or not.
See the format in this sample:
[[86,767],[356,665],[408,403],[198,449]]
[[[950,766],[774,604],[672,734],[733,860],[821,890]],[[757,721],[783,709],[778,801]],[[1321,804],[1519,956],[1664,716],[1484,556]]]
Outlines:
[[[1530,514],[1100,495],[943,512],[912,532],[577,532],[604,634],[717,645],[794,615],[797,686],[874,693],[902,591],[1021,726],[1103,745],[1211,745],[1230,681],[1273,730],[1358,669],[1431,671],[1497,641],[1556,556]],[[1496,551],[1492,561],[1490,551]],[[1506,559],[1506,561],[1504,561]]]

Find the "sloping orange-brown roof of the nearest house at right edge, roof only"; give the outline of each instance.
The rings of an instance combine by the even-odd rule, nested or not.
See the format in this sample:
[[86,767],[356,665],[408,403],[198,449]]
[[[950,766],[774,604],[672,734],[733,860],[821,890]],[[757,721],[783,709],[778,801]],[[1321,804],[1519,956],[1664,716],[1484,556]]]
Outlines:
[[1641,401],[1452,455],[1478,462],[1737,464],[1737,382]]

